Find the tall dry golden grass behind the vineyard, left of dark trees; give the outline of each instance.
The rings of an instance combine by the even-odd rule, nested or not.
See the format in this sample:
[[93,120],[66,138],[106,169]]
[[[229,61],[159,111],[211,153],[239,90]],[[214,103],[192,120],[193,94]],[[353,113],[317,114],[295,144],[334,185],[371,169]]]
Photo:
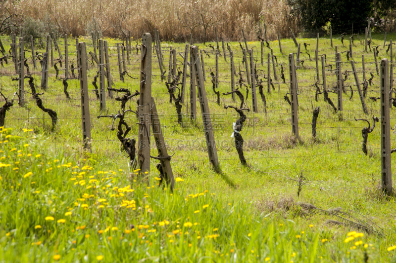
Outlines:
[[[284,0],[199,0],[200,6],[210,6],[209,13],[217,23],[218,36],[224,40],[242,38],[244,29],[249,40],[257,39],[267,24],[267,37],[289,37],[289,27],[300,30],[296,18],[290,15],[290,7]],[[20,17],[32,17],[50,21],[62,33],[73,36],[89,35],[93,25],[103,31],[105,37],[123,36],[131,31],[135,39],[144,32],[160,31],[165,40],[183,41],[190,38],[190,30],[183,27],[178,17],[190,16],[195,10],[191,0],[18,0],[14,8]],[[214,26],[208,28],[207,39],[214,39]],[[193,32],[195,41],[203,40],[203,27]]]

